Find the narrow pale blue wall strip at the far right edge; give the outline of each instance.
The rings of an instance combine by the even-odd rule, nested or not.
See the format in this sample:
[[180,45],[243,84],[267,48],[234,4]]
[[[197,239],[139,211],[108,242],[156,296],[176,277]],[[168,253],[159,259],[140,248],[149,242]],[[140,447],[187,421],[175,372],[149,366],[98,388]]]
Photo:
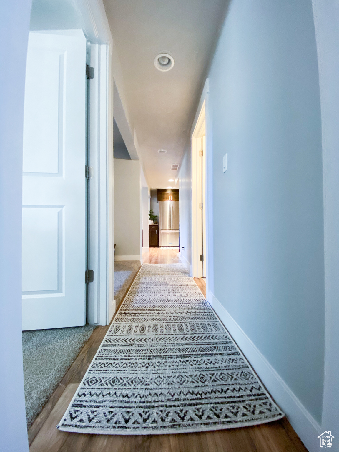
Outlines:
[[[339,436],[339,8],[313,0],[320,75],[325,225],[325,381],[322,425]],[[338,446],[336,445],[338,448]],[[316,449],[318,450],[318,449]]]

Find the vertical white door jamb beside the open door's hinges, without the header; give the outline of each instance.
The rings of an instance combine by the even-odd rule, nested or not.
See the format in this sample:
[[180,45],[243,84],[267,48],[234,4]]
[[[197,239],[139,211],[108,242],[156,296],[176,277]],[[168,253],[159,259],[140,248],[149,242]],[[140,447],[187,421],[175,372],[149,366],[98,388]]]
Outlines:
[[109,311],[108,259],[108,45],[90,44],[89,63],[94,78],[88,80],[88,166],[89,268],[93,282],[87,284],[87,320],[90,325],[107,325]]

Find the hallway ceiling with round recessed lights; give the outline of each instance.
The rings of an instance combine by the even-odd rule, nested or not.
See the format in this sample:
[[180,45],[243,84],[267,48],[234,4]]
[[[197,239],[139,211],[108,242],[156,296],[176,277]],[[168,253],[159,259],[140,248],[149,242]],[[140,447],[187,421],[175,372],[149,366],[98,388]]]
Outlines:
[[[174,182],[208,64],[222,26],[226,0],[104,0],[122,67],[128,113],[150,188]],[[173,69],[158,71],[160,52]],[[166,154],[158,154],[165,149]]]

